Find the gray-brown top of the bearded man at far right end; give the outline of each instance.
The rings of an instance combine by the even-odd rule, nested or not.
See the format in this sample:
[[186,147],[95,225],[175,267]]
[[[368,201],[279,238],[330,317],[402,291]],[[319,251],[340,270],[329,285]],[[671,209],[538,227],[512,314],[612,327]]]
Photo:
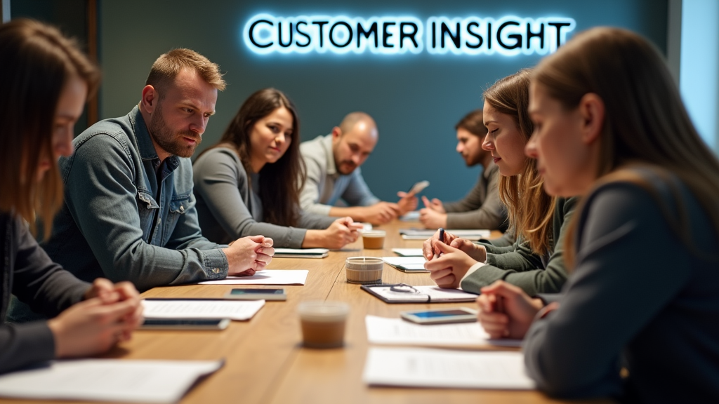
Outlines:
[[500,201],[497,186],[499,167],[495,163],[482,171],[475,188],[460,201],[444,203],[447,229],[507,230],[507,208]]

